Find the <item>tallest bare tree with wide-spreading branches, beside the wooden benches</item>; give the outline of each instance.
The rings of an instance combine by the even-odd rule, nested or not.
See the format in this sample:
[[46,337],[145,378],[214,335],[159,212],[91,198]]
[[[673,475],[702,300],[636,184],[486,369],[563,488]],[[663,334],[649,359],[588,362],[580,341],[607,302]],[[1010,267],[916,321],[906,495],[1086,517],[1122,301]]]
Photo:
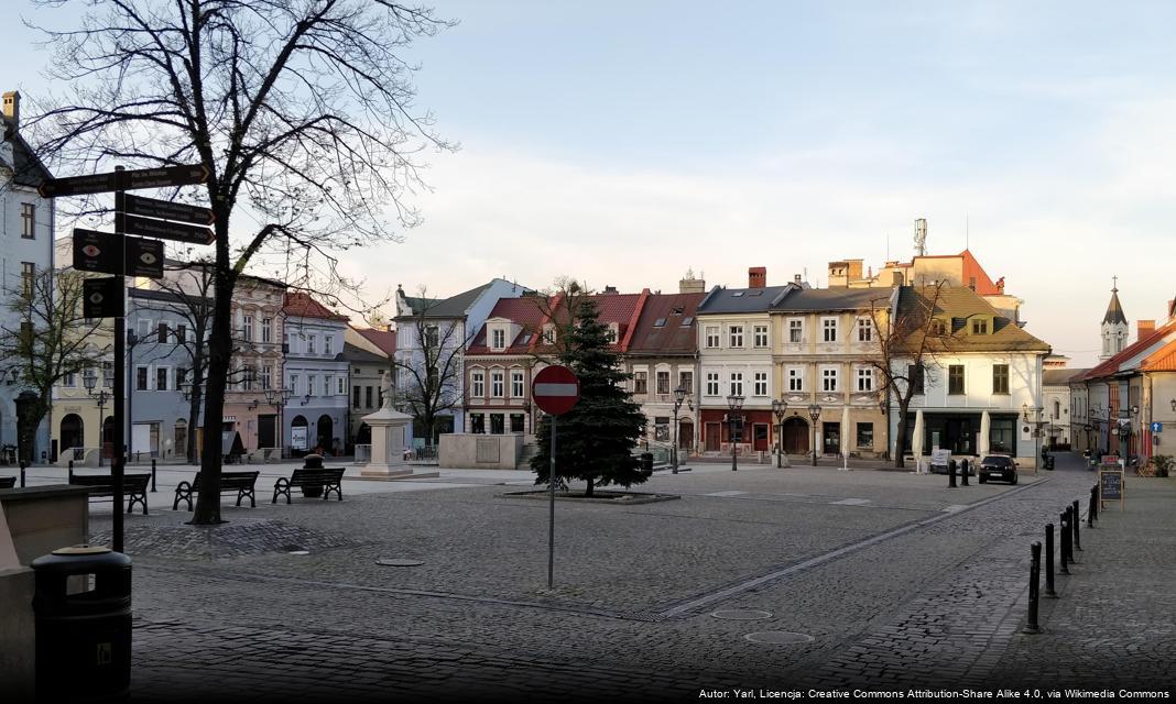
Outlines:
[[[76,29],[42,28],[68,92],[29,127],[56,173],[200,163],[212,174],[199,197],[216,235],[205,417],[221,417],[233,291],[252,262],[303,253],[303,276],[338,284],[334,253],[419,222],[407,197],[422,186],[420,155],[450,146],[414,107],[403,52],[450,22],[394,0],[86,7]],[[193,522],[219,523],[219,434],[205,434],[201,469]]]

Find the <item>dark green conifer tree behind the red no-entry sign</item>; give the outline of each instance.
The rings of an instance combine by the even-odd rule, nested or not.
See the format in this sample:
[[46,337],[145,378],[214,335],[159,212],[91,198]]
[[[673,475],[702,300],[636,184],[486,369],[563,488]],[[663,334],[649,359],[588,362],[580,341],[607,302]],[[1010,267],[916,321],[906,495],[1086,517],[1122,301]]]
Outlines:
[[[600,322],[596,304],[584,296],[572,303],[572,324],[566,327],[567,343],[559,361],[580,378],[580,402],[559,417],[556,424],[555,474],[560,480],[583,480],[584,496],[599,484],[628,488],[644,482],[641,462],[633,448],[641,436],[646,416],[629,400],[617,354],[609,349],[608,327]],[[539,452],[532,457],[535,483],[548,482],[552,462],[552,417],[543,416],[536,438]]]

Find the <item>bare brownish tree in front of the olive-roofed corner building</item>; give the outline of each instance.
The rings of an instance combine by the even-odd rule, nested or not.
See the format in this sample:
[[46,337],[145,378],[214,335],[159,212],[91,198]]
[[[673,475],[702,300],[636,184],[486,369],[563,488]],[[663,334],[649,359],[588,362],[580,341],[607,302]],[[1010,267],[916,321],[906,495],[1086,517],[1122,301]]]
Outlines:
[[876,335],[875,353],[869,364],[882,378],[882,388],[898,407],[898,427],[895,438],[894,465],[906,467],[907,413],[910,401],[934,385],[927,368],[935,362],[935,354],[943,351],[951,340],[950,320],[943,324],[936,317],[940,310],[943,282],[916,287],[898,287],[893,300],[871,302],[870,319]]

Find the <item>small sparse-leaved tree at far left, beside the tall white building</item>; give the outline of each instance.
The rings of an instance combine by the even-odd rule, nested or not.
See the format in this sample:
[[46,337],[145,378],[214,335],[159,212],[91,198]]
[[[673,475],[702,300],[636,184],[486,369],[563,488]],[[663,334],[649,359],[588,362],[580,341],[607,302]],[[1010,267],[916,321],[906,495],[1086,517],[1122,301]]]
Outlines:
[[0,360],[15,368],[18,383],[36,396],[16,427],[25,462],[36,456],[33,438],[53,407],[53,387],[101,364],[109,354],[109,344],[95,344],[102,321],[82,314],[85,281],[73,269],[41,269],[5,291],[13,315],[11,327],[0,327]]

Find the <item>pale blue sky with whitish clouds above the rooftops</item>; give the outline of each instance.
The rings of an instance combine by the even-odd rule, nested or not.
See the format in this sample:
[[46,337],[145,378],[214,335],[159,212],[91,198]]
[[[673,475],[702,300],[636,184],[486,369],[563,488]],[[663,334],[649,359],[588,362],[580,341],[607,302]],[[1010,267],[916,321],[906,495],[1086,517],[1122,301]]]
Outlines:
[[[1176,296],[1176,4],[436,0],[423,223],[348,256],[373,297],[501,276],[674,291],[969,247],[1027,329],[1093,366]],[[32,8],[22,12],[34,16]],[[47,55],[0,26],[0,86]]]

